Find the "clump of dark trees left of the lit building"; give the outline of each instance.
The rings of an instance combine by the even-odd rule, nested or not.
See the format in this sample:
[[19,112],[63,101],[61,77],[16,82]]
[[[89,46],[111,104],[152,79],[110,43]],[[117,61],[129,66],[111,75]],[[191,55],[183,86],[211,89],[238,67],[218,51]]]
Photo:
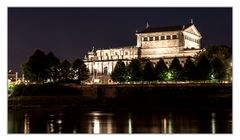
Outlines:
[[37,84],[46,82],[78,82],[89,78],[89,70],[82,59],[77,58],[73,63],[68,60],[60,62],[52,52],[45,54],[37,49],[22,64],[22,71],[26,80]]

